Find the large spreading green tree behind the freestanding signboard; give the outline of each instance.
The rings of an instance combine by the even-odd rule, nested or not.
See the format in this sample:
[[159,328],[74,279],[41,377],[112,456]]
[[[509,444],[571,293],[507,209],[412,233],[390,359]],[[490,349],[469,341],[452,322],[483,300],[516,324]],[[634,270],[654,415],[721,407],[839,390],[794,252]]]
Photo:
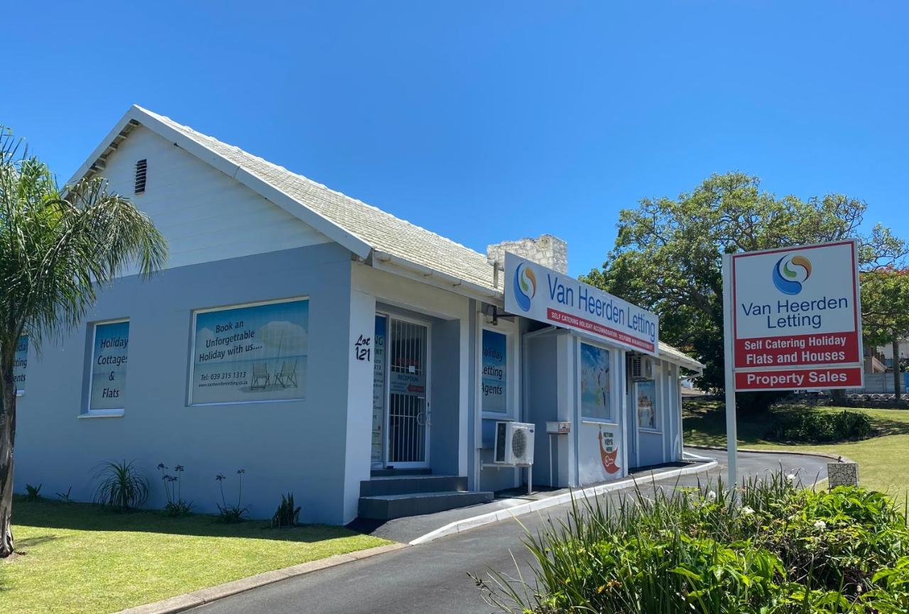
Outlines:
[[714,174],[675,199],[622,210],[612,252],[584,281],[659,313],[661,338],[704,362],[700,385],[721,391],[722,254],[854,238],[863,270],[899,261],[906,245],[889,229],[860,232],[866,211],[842,194],[779,198],[752,175]]

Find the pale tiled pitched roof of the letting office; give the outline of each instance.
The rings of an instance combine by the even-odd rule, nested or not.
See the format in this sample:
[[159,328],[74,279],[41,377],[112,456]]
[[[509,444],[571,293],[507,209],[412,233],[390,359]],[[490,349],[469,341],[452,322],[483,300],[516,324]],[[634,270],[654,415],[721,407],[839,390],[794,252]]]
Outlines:
[[[503,292],[501,282],[496,287],[494,267],[484,254],[136,104],[76,171],[73,179],[87,173],[101,173],[106,156],[115,151],[117,144],[136,124],[144,125],[245,183],[361,257],[367,257],[370,252],[389,254],[493,294]],[[666,360],[696,371],[703,369],[700,362],[663,342],[659,344],[659,351]]]

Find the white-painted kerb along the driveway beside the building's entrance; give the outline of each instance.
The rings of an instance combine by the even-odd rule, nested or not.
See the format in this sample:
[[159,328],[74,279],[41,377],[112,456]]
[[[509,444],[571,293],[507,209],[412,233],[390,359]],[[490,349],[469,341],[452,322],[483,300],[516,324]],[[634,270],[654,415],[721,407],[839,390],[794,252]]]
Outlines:
[[660,473],[651,473],[649,476],[642,476],[638,478],[626,478],[624,480],[611,481],[605,484],[599,484],[597,486],[591,486],[585,488],[584,490],[571,490],[569,492],[564,492],[559,495],[554,495],[553,497],[547,497],[545,499],[539,499],[534,501],[529,501],[521,505],[516,505],[514,508],[506,508],[504,510],[490,511],[485,514],[480,514],[479,516],[474,516],[473,518],[465,518],[463,520],[454,520],[446,524],[444,527],[430,531],[425,535],[422,535],[415,540],[410,542],[411,546],[418,546],[420,544],[425,544],[433,540],[438,540],[439,538],[445,537],[446,535],[453,535],[454,533],[460,533],[464,530],[474,529],[476,527],[482,527],[484,524],[492,524],[493,522],[498,522],[499,520],[508,520],[509,518],[514,518],[516,516],[522,516],[524,514],[529,514],[532,511],[545,510],[546,508],[551,508],[556,505],[562,505],[563,503],[568,503],[572,499],[582,499],[584,497],[594,497],[596,495],[602,494],[604,492],[609,492],[612,490],[622,490],[633,486],[635,484],[656,480],[667,480],[671,478],[678,478],[684,475],[691,475],[693,473],[702,473],[704,471],[709,471],[715,469],[719,466],[719,463],[716,460],[710,460],[709,462],[700,463],[697,465],[692,465],[691,467],[683,467],[681,469],[673,469],[667,471],[661,471]]

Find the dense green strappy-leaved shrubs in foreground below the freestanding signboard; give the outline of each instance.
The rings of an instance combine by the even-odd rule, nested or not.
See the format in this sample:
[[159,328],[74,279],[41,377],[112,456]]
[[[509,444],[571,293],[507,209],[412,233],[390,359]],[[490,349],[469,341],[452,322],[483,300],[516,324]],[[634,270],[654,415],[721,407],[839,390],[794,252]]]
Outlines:
[[474,577],[521,614],[855,614],[909,611],[909,530],[884,495],[801,490],[782,474],[576,501],[526,543],[535,582]]

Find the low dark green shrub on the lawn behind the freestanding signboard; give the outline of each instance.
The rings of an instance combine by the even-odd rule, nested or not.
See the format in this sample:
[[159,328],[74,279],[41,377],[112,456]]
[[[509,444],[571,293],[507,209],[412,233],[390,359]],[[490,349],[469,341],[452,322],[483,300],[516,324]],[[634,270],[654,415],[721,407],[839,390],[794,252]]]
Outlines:
[[776,411],[764,435],[771,441],[828,443],[864,440],[872,436],[871,420],[859,411]]

